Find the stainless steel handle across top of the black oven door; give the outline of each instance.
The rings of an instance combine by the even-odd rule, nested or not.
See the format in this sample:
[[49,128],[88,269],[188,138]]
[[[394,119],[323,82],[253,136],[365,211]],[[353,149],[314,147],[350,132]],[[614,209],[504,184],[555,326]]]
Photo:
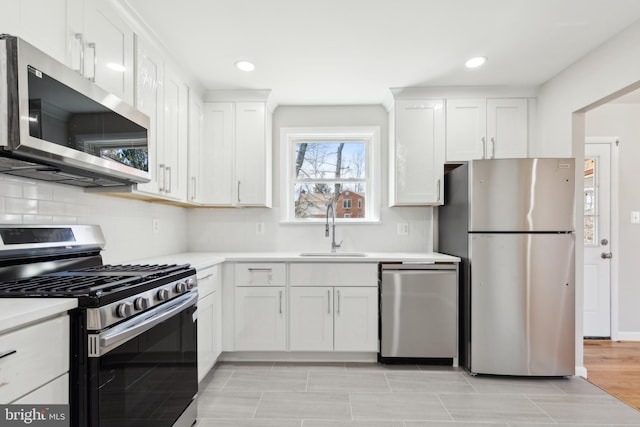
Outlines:
[[196,292],[190,292],[176,298],[174,301],[163,304],[157,309],[151,310],[143,319],[132,319],[111,328],[101,334],[89,335],[89,357],[100,357],[173,317],[176,313],[194,305],[198,299]]

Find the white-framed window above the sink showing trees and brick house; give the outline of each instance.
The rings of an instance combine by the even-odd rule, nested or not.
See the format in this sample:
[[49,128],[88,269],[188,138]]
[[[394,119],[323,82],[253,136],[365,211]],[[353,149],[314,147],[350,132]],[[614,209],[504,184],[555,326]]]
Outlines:
[[336,218],[377,221],[379,133],[377,127],[281,129],[283,220],[324,221],[333,202]]

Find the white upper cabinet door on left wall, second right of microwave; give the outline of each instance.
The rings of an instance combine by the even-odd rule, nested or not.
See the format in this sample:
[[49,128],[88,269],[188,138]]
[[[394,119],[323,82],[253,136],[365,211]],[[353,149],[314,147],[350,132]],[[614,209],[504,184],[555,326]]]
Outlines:
[[165,69],[164,77],[164,150],[159,165],[163,175],[160,190],[172,199],[186,200],[189,88],[170,69]]

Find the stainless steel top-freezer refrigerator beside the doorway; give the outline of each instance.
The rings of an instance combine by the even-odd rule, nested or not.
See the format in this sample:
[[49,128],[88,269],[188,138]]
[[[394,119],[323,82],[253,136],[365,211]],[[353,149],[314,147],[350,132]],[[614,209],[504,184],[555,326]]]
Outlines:
[[575,371],[575,162],[473,160],[445,175],[438,251],[460,266],[459,362],[471,373]]

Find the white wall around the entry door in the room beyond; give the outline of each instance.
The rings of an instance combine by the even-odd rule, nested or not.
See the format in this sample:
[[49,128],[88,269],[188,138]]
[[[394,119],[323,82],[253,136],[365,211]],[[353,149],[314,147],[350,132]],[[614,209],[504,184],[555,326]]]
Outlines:
[[640,211],[640,105],[606,104],[586,113],[587,137],[618,137],[618,323],[621,339],[640,339],[640,225],[631,224],[631,211]]

